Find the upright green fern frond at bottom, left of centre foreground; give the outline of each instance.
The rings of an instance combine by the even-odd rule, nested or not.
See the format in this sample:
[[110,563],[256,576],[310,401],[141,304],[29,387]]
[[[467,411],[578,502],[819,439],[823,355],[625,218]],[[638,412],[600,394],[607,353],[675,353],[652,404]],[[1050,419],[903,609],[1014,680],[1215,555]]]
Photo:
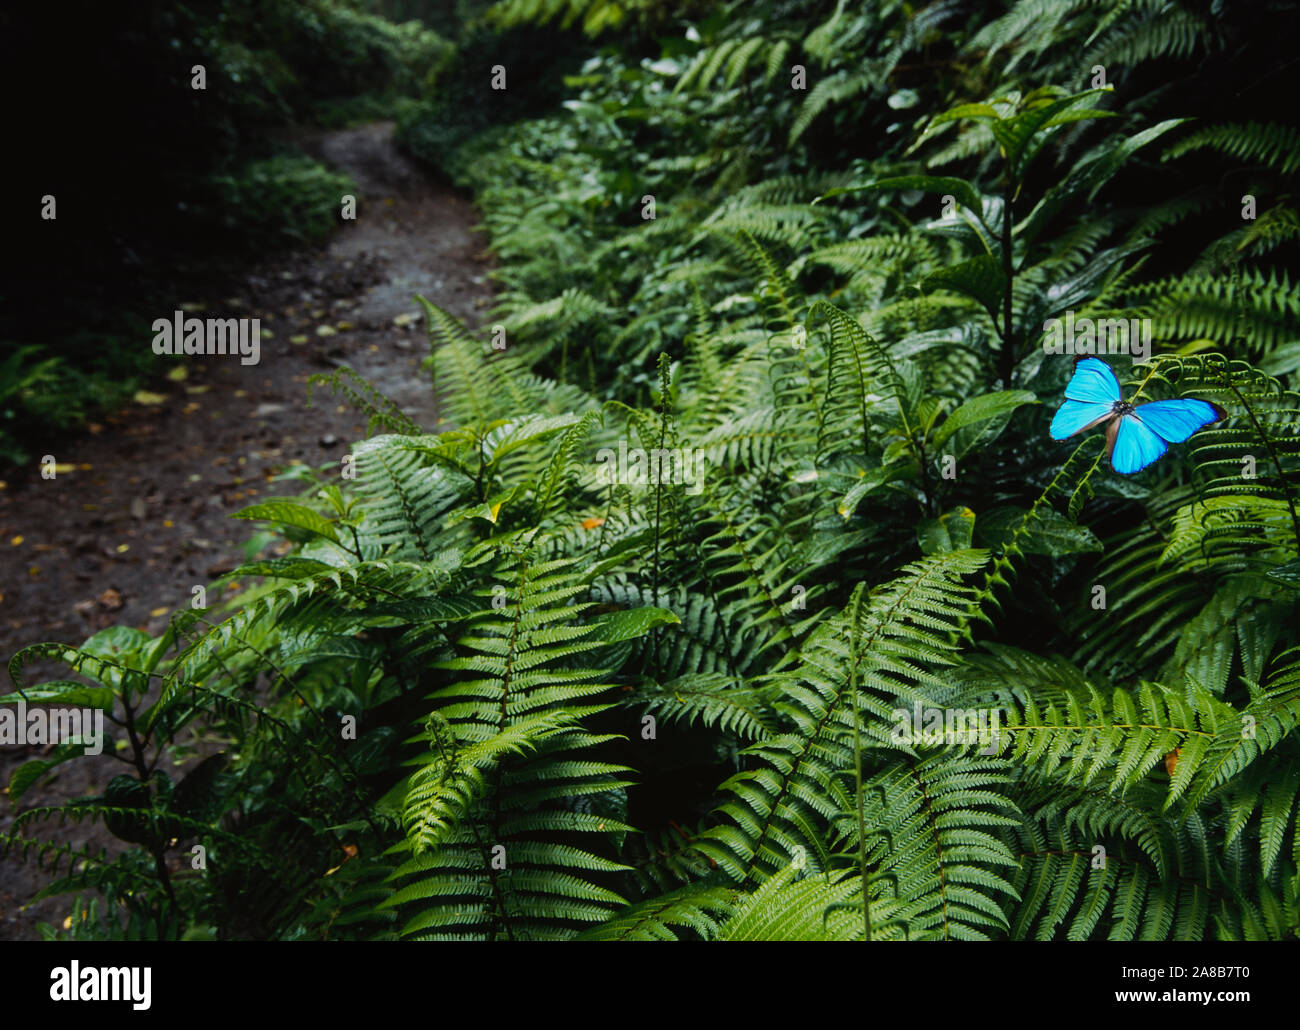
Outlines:
[[467,623],[464,654],[439,663],[467,675],[430,698],[430,750],[407,791],[394,873],[404,886],[384,903],[410,913],[403,936],[562,936],[620,901],[590,879],[619,862],[560,843],[585,834],[599,847],[628,828],[614,810],[597,814],[625,770],[581,757],[607,739],[582,719],[607,707],[595,701],[608,684],[599,667],[564,663],[673,616],[640,609],[576,624],[589,606],[568,603],[584,589],[573,562],[502,558],[506,607]]

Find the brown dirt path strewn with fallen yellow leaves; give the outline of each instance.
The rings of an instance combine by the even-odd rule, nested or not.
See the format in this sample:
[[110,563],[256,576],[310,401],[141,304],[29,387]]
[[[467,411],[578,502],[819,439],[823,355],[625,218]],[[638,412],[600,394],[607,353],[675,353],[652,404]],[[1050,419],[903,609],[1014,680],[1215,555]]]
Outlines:
[[[146,403],[61,445],[55,458],[70,471],[0,489],[5,661],[26,644],[79,644],[112,624],[160,632],[194,585],[244,561],[255,524],[229,515],[294,493],[292,484],[269,482],[286,466],[338,462],[348,441],[365,436],[365,419],[329,390],[317,389],[306,407],[312,373],[350,364],[433,428],[429,380],[420,371],[426,337],[411,298],[422,294],[471,325],[482,321],[491,291],[476,212],[396,150],[391,122],[299,143],[356,179],[356,221],[325,248],[257,268],[231,295],[177,298],[177,307],[199,317],[260,317],[272,333],[260,363],[185,359],[183,380],[151,388],[159,399],[139,398]],[[8,676],[0,676],[0,693],[8,689]],[[0,746],[0,786],[39,750]],[[70,762],[22,806],[96,793],[121,771],[105,758]],[[12,822],[10,804],[0,801],[0,831]],[[51,836],[113,843],[90,825]],[[21,909],[43,882],[34,869],[0,860],[0,939],[34,939],[38,922],[61,922],[66,899]]]

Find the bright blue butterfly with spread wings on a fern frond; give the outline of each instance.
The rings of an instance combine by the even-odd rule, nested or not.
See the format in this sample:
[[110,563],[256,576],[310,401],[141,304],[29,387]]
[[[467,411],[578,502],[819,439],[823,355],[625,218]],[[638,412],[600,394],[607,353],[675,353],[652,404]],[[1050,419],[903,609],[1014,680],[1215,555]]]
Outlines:
[[1121,397],[1119,380],[1110,365],[1096,358],[1075,360],[1065,397],[1052,419],[1052,438],[1066,440],[1106,423],[1110,467],[1124,476],[1141,472],[1169,450],[1170,443],[1182,443],[1225,414],[1217,404],[1191,397],[1130,404]]

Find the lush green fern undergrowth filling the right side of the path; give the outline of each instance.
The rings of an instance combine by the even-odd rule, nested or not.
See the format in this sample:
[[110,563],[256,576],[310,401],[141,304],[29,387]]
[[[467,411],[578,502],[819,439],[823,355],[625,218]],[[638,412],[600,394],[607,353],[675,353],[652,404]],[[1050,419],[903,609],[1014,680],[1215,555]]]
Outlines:
[[[1300,137],[1240,108],[1275,43],[852,7],[638,59],[636,5],[498,5],[632,35],[439,159],[503,286],[477,337],[421,300],[443,424],[325,377],[370,433],[242,512],[294,545],[260,587],[10,665],[96,684],[23,689],[130,761],[5,840],[103,892],[74,935],[1296,938]],[[1053,442],[1066,312],[1148,319],[1124,397],[1225,417],[1134,476]],[[39,843],[69,817],[136,847]]]

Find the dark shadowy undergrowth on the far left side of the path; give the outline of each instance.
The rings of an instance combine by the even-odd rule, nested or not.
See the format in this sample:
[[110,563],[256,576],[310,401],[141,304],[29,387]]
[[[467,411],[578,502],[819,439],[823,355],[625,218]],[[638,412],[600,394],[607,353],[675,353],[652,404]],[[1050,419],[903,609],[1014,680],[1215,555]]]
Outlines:
[[[0,16],[12,90],[40,98],[10,126],[23,213],[0,285],[0,469],[156,377],[139,337],[159,315],[339,225],[355,183],[290,129],[394,117],[437,91],[454,52],[358,0],[90,5],[74,31],[68,18]],[[58,60],[30,66],[49,40]]]

